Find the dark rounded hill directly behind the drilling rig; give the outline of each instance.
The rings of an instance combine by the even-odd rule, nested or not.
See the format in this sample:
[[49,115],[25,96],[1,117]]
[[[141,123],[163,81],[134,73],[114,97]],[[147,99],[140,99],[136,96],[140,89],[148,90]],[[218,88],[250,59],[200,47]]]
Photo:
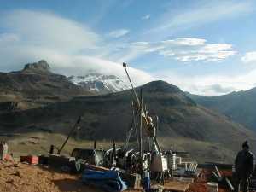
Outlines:
[[[159,116],[157,133],[166,149],[187,150],[199,161],[231,162],[244,140],[256,144],[253,131],[198,106],[177,86],[154,81],[140,88],[148,112],[153,117]],[[131,90],[125,90],[101,96],[77,96],[42,108],[2,113],[0,131],[67,133],[81,115],[81,129],[76,131],[75,138],[125,141],[131,128],[131,98]]]

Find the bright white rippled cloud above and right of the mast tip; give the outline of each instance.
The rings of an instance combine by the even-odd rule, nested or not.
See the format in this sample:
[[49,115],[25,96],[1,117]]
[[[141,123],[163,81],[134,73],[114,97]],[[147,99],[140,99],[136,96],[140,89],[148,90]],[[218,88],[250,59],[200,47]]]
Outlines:
[[130,61],[138,56],[154,52],[172,57],[177,61],[220,61],[235,55],[231,44],[209,44],[201,38],[176,38],[160,42],[134,42],[120,47],[124,55],[120,58]]

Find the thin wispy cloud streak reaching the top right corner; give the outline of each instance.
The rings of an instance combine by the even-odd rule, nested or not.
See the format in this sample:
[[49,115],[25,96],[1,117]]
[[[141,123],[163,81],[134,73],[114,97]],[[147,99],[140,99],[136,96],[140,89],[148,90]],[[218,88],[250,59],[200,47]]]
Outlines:
[[159,35],[160,32],[168,32],[170,35],[170,33],[202,26],[216,20],[229,20],[250,13],[255,9],[254,6],[253,1],[207,1],[207,3],[203,1],[203,3],[194,3],[194,7],[189,9],[177,11],[172,9],[173,6],[170,3],[166,12],[148,32],[156,32]]

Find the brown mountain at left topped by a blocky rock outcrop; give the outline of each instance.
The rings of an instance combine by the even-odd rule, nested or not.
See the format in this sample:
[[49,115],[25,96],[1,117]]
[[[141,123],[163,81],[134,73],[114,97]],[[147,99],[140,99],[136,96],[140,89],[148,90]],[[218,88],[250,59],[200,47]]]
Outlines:
[[37,108],[73,96],[91,95],[67,77],[50,71],[42,60],[16,72],[0,73],[0,113],[4,110]]

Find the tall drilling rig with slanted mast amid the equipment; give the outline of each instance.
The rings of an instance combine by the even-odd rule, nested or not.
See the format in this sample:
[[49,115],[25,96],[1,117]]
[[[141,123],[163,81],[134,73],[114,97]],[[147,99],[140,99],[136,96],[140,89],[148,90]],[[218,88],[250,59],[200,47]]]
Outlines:
[[[120,150],[120,155],[117,153],[117,165],[125,167],[125,170],[130,170],[131,172],[143,173],[148,170],[153,173],[160,173],[160,175],[163,176],[164,173],[168,171],[168,160],[167,156],[162,153],[160,144],[156,137],[157,126],[154,125],[153,118],[149,115],[146,107],[143,106],[143,90],[141,90],[139,98],[131,82],[131,78],[126,69],[127,65],[125,63],[123,63],[123,67],[125,68],[125,73],[130,81],[134,97],[134,102],[132,102],[133,119],[139,119],[138,125],[136,125],[136,123],[133,125],[133,128],[137,126],[139,132],[139,151],[134,151],[134,149],[127,150],[127,143],[131,137],[131,129],[131,131],[128,132],[125,148]],[[158,120],[158,118],[156,119]],[[143,132],[148,137],[148,150],[146,151],[143,150]],[[152,150],[150,150],[151,146],[153,147]]]

